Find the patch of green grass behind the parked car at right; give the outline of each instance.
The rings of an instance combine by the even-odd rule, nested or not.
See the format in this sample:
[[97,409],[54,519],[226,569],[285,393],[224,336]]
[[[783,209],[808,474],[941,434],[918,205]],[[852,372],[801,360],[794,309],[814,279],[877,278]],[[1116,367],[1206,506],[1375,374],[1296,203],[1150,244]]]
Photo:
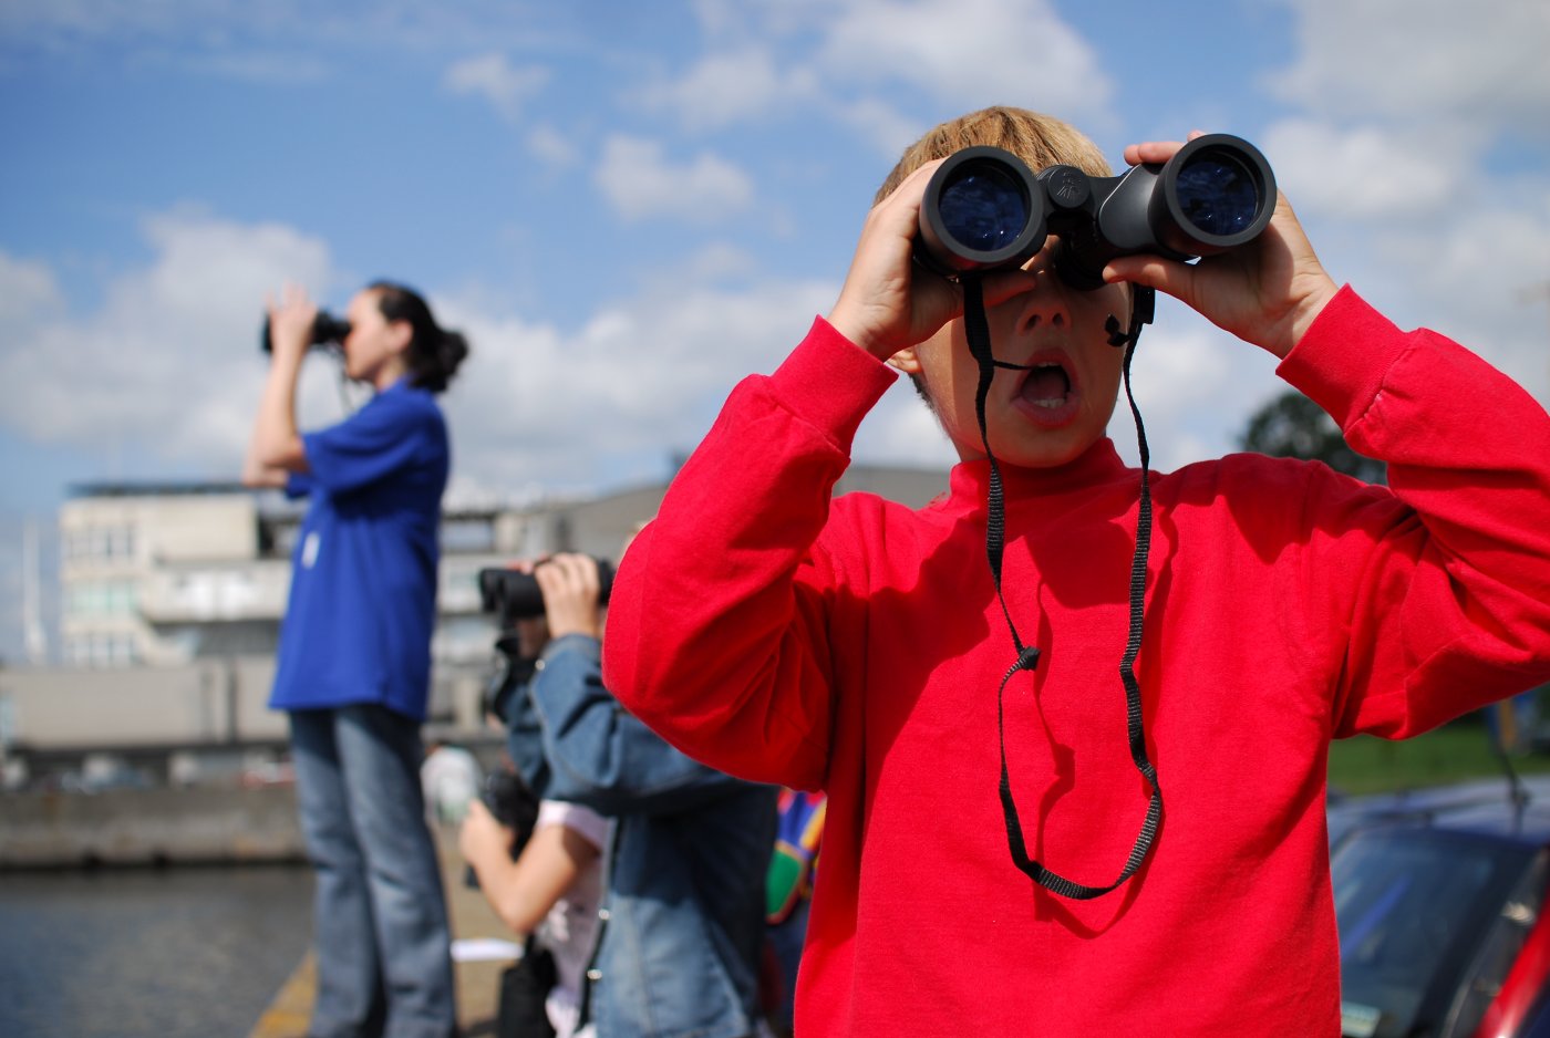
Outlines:
[[[1479,724],[1454,724],[1403,742],[1372,736],[1341,739],[1330,747],[1330,789],[1381,793],[1504,775],[1488,739]],[[1550,772],[1550,756],[1513,756],[1513,770]]]

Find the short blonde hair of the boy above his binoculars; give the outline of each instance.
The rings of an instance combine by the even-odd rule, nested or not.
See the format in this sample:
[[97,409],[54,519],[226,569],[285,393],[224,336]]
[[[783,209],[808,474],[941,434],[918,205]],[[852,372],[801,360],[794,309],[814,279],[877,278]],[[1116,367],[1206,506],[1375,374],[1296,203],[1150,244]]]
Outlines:
[[1028,108],[995,105],[949,119],[907,147],[899,164],[882,181],[874,201],[891,195],[905,177],[925,163],[947,158],[975,144],[1003,147],[1035,172],[1046,166],[1066,164],[1093,177],[1111,175],[1104,153],[1070,122]]

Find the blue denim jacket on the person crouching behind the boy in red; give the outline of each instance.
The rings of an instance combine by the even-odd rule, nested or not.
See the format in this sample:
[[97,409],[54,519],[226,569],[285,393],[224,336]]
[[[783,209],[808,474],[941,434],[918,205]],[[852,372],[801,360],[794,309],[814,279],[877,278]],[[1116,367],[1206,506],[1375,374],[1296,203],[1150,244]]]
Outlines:
[[777,790],[670,747],[603,688],[600,660],[595,638],[556,638],[505,705],[535,792],[617,820],[583,1019],[598,1038],[753,1035]]

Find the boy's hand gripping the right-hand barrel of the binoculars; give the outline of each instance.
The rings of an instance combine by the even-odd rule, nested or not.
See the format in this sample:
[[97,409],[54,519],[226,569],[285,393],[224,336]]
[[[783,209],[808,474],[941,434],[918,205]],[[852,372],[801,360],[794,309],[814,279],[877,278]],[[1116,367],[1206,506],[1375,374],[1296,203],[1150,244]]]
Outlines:
[[[1190,133],[1190,139],[1200,133]],[[1166,163],[1178,141],[1149,141],[1125,149],[1125,161]],[[1156,256],[1121,256],[1104,270],[1107,280],[1130,280],[1164,291],[1226,332],[1286,356],[1313,324],[1338,285],[1324,271],[1286,197],[1276,201],[1269,226],[1249,245],[1198,263]]]

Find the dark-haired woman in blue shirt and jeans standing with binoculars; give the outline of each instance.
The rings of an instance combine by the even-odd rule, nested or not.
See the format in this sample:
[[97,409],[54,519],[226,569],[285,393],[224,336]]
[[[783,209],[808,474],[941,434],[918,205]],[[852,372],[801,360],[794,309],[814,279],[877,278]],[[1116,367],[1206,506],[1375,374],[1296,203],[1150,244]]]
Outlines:
[[302,833],[318,877],[318,996],[308,1033],[456,1032],[446,902],[425,824],[446,389],[468,344],[401,285],[356,293],[344,373],[377,394],[344,421],[296,428],[318,308],[270,307],[273,361],[243,466],[250,486],[310,505],[296,542],[270,706],[291,724]]

